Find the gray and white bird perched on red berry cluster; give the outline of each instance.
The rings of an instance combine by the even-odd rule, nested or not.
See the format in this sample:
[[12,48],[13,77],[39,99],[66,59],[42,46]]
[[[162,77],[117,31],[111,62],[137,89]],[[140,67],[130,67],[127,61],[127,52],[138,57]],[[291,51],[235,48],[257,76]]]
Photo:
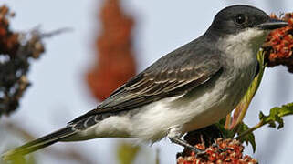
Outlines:
[[181,137],[225,118],[257,74],[256,53],[271,30],[288,26],[251,5],[219,11],[202,36],[162,56],[117,88],[97,108],[64,128],[8,150],[5,160],[56,142],[138,138],[196,149]]

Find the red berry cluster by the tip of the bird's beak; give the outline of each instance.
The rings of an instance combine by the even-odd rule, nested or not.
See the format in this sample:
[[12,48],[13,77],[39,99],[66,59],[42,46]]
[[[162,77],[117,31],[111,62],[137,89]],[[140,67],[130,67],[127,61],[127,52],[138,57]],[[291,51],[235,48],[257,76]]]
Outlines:
[[278,18],[272,14],[271,17],[287,21],[289,26],[273,30],[263,45],[266,53],[267,67],[284,65],[293,72],[293,13],[287,13]]

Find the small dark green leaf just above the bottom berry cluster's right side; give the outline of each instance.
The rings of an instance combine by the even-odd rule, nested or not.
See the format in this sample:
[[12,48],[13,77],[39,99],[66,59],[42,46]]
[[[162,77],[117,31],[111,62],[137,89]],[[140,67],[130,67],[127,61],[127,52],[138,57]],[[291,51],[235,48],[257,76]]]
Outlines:
[[[248,129],[249,129],[249,127],[245,123],[242,122],[242,123],[238,124],[237,134],[242,134],[243,132],[245,132]],[[253,132],[248,133],[246,136],[240,138],[239,140],[240,140],[240,142],[246,142],[247,146],[250,143],[253,151],[256,152],[256,138],[255,138],[255,135]]]

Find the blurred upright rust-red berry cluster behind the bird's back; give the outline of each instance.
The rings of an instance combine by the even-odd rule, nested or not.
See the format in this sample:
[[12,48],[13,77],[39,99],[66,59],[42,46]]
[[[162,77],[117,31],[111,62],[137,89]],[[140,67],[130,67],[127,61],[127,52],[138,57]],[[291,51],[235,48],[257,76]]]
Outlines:
[[100,9],[96,62],[86,75],[90,91],[99,100],[109,97],[136,74],[131,44],[134,21],[120,3],[120,0],[104,1]]

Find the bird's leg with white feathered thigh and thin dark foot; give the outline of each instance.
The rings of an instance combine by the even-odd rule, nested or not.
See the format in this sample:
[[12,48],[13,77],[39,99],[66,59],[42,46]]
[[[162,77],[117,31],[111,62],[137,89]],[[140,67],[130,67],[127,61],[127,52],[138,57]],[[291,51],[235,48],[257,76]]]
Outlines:
[[183,146],[184,148],[188,148],[188,149],[193,150],[196,155],[205,154],[204,150],[197,149],[194,146],[190,145],[185,140],[181,139],[181,136],[182,136],[181,128],[179,128],[179,127],[170,128],[169,133],[168,133],[168,138],[171,140],[171,142],[173,142],[177,145]]

